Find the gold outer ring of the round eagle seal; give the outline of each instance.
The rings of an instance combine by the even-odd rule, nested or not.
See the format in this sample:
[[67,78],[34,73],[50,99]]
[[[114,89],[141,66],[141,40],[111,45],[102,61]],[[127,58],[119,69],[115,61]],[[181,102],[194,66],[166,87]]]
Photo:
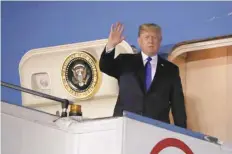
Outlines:
[[[87,90],[84,90],[83,92],[74,91],[72,88],[70,88],[66,80],[66,69],[73,59],[84,60],[86,63],[89,64],[93,74],[93,80],[90,83],[90,87],[87,88]],[[61,69],[61,77],[63,86],[65,87],[66,91],[79,100],[87,100],[93,97],[99,90],[102,82],[102,74],[99,68],[99,61],[97,61],[91,54],[84,50],[73,52],[65,58]]]

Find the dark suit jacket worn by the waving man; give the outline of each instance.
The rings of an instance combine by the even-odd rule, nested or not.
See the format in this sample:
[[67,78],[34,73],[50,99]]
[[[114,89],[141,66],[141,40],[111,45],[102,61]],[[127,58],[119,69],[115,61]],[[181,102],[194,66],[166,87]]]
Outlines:
[[186,128],[184,95],[179,68],[158,56],[156,74],[145,89],[145,66],[141,53],[120,54],[114,58],[115,49],[101,54],[100,70],[118,80],[119,95],[114,116],[122,116],[123,110],[170,123],[172,109],[174,123]]

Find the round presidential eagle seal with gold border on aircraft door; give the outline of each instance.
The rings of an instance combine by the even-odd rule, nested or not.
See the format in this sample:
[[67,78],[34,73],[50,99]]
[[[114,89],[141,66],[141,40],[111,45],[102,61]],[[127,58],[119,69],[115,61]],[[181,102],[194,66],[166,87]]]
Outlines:
[[61,71],[65,89],[81,100],[88,99],[97,92],[100,75],[97,60],[85,51],[69,55]]

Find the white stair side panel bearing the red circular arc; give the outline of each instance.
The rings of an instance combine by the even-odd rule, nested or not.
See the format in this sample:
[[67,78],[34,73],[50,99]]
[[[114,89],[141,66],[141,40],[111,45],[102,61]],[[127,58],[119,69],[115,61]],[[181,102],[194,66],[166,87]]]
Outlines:
[[[165,138],[183,141],[194,154],[229,154],[229,152],[223,152],[219,145],[131,119],[126,119],[123,154],[148,154],[159,141]],[[170,150],[168,153],[174,152]]]

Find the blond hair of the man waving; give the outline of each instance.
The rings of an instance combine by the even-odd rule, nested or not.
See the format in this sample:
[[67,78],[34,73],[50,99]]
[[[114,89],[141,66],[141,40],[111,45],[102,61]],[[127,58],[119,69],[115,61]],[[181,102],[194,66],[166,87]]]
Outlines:
[[154,23],[145,23],[139,26],[139,32],[138,32],[138,36],[141,35],[142,31],[158,31],[160,33],[160,36],[162,38],[162,29],[159,25],[154,24]]

